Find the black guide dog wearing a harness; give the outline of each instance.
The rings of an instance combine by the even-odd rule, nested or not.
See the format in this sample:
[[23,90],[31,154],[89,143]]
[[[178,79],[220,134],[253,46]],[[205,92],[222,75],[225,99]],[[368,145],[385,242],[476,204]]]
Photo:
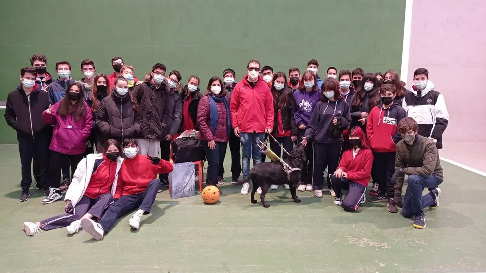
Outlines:
[[[290,155],[284,160],[284,162],[287,163],[291,168],[299,169],[302,169],[305,161],[305,150],[302,144],[293,147]],[[251,169],[250,174],[241,181],[242,183],[248,183],[248,181],[251,179],[251,182],[253,182],[253,188],[251,190],[251,203],[257,203],[255,200],[255,192],[257,191],[258,187],[261,187],[262,194],[260,194],[260,200],[262,201],[263,207],[270,207],[270,205],[265,202],[265,194],[267,194],[270,185],[284,184],[289,185],[293,201],[300,203],[300,199],[298,199],[298,196],[295,195],[295,193],[300,182],[302,171],[292,171],[288,177],[283,167],[284,166],[281,162],[268,162],[260,163]]]

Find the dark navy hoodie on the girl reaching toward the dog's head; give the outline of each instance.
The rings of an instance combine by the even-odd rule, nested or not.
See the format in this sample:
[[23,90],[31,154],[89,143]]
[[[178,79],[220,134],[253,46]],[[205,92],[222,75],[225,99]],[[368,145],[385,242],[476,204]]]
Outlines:
[[[334,134],[333,120],[339,118],[341,134],[336,136]],[[351,123],[351,112],[349,105],[344,100],[328,100],[319,101],[312,113],[309,125],[305,131],[305,137],[314,142],[322,144],[344,142],[342,138],[342,131],[349,127]]]

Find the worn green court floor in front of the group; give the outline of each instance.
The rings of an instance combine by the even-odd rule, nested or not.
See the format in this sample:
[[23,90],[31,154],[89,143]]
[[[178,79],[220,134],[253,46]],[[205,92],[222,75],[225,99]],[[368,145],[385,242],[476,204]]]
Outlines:
[[330,196],[300,193],[296,204],[280,188],[267,194],[266,209],[227,183],[215,205],[199,194],[171,200],[160,193],[139,231],[127,216],[94,241],[65,228],[27,237],[22,222],[60,214],[64,205],[42,205],[35,189],[19,202],[17,147],[2,145],[0,155],[1,272],[486,271],[486,178],[445,162],[440,207],[426,212],[423,230],[384,203],[347,213]]

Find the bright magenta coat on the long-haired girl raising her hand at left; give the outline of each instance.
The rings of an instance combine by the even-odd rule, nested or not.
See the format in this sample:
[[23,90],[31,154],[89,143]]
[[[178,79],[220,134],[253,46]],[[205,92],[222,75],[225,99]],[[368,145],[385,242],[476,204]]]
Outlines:
[[52,113],[46,111],[42,113],[42,120],[47,124],[54,125],[54,133],[49,149],[65,155],[79,155],[86,152],[86,141],[91,134],[93,127],[93,113],[88,104],[84,104],[84,117],[78,121],[74,120],[73,115],[66,118],[57,114],[59,107],[57,102],[52,106]]

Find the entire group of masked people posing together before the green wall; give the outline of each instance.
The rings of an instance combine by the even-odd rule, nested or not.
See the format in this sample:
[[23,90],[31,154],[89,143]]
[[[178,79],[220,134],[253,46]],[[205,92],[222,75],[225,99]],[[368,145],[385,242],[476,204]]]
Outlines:
[[[326,191],[346,211],[365,202],[371,178],[369,201],[386,202],[392,213],[402,207],[416,228],[425,228],[424,208],[438,206],[443,181],[438,149],[448,113],[424,68],[414,72],[409,91],[394,70],[330,67],[323,79],[315,59],[305,72],[290,68],[288,74],[250,60],[242,80],[228,68],[222,78],[209,80],[203,94],[199,77],[183,82],[180,72],[166,74],[161,63],[138,80],[121,57],[112,59],[110,75],[96,74],[87,59],[81,62],[84,77],[76,81],[66,61],[56,63],[57,79],[46,71],[44,55],[30,61],[5,110],[19,143],[20,201],[30,197],[33,171],[36,188],[46,196],[43,204],[62,199],[66,191],[66,214],[24,222],[27,235],[60,227],[74,234],[82,227],[99,240],[133,210],[130,226],[138,228],[161,184],[168,185],[171,141],[186,130],[199,131],[208,161],[206,185],[225,183],[228,143],[231,183],[238,184],[240,173],[249,174],[250,159],[253,165],[265,161],[258,140],[268,138],[283,159],[294,145],[305,145],[298,190],[323,197],[326,180]],[[244,183],[241,194],[249,188]],[[422,196],[424,188],[429,193]]]

